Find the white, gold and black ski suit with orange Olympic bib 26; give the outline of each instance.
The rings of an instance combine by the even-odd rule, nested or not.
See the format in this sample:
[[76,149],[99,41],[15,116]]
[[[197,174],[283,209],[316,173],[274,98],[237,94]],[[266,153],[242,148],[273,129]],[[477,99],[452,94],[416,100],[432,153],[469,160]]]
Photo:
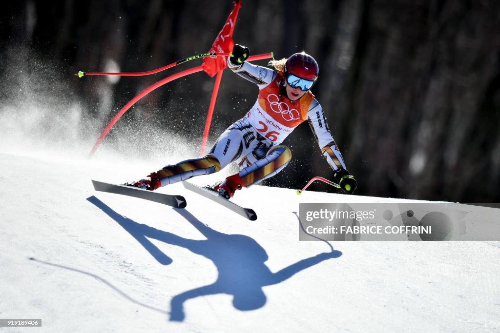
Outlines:
[[291,101],[282,87],[282,73],[248,62],[238,66],[229,60],[227,63],[234,73],[257,84],[260,91],[255,104],[220,135],[206,156],[167,165],[157,171],[161,186],[217,172],[231,162],[239,165],[239,176],[245,187],[272,177],[291,159],[290,149],[281,142],[305,120],[333,171],[345,169],[323,110],[310,91]]

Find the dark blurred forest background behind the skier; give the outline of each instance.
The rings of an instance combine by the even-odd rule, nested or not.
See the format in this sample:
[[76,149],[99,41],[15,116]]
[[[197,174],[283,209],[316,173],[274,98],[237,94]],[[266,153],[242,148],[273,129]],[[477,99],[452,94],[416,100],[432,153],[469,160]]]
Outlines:
[[[230,0],[11,1],[0,13],[0,75],[9,79],[15,68],[65,82],[102,129],[167,74],[113,83],[73,73],[144,71],[206,52],[232,8]],[[499,31],[495,0],[242,0],[233,39],[252,54],[281,58],[305,50],[316,58],[313,92],[359,182],[356,194],[494,202],[500,198]],[[178,67],[168,74],[190,65]],[[197,73],[169,83],[123,122],[145,121],[198,142],[213,81]],[[2,89],[0,99],[15,97],[14,90]],[[211,142],[256,95],[256,86],[224,73]],[[292,162],[267,184],[301,188],[312,176],[331,178],[306,124],[285,144]]]

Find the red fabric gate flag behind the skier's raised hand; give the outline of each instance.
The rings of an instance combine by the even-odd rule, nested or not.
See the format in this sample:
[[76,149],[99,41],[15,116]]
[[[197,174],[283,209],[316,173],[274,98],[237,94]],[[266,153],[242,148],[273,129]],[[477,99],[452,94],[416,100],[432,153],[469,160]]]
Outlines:
[[[241,8],[240,0],[234,3],[234,8],[232,9],[229,17],[222,27],[222,30],[215,38],[212,44],[212,48],[208,52],[217,53],[229,53],[232,51],[234,42],[232,41],[232,32],[234,31],[234,24],[236,23],[236,17],[238,16],[239,8]],[[219,70],[224,69],[227,66],[227,57],[206,57],[203,59],[203,64],[201,67],[203,70],[211,77],[215,76]]]

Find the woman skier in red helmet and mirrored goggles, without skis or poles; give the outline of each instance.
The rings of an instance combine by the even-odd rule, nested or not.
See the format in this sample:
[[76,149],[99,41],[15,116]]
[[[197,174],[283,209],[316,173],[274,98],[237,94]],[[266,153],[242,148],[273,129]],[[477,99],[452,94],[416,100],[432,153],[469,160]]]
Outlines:
[[290,161],[291,152],[280,143],[301,122],[307,120],[333,178],[347,194],[352,194],[356,180],[345,168],[342,155],[330,134],[323,110],[310,88],[317,79],[316,60],[302,52],[288,59],[271,60],[275,70],[246,62],[247,47],[235,44],[228,67],[239,76],[258,85],[258,99],[246,115],[233,123],[218,138],[210,152],[201,158],[167,165],[146,178],[126,185],[155,190],[194,176],[217,172],[231,162],[240,171],[213,185],[226,199],[234,191],[256,184],[281,171]]

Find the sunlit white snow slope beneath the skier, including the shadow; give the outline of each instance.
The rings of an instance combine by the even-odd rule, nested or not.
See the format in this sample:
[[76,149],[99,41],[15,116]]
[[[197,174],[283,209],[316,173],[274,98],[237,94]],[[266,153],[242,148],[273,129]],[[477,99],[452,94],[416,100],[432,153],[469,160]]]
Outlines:
[[382,198],[254,186],[250,222],[91,187],[154,168],[0,151],[0,319],[42,319],[1,332],[500,331],[499,242],[298,241],[299,202]]

